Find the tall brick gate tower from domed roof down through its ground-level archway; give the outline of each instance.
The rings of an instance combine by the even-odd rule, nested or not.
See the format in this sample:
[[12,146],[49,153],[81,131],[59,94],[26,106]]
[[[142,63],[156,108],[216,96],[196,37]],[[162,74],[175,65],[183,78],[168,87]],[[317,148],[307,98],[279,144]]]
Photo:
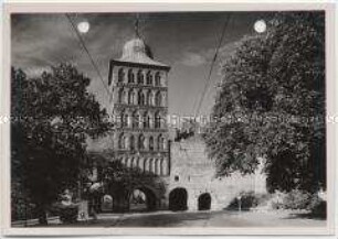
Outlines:
[[[120,123],[112,129],[108,142],[113,142],[105,152],[114,152],[114,160],[140,172],[139,185],[126,185],[126,192],[124,188],[114,195],[115,189],[110,189],[115,204],[113,211],[166,207],[162,202],[165,180],[161,178],[170,175],[169,132],[167,123],[160,119],[168,113],[169,70],[170,66],[154,59],[138,35],[124,45],[120,58],[109,62],[112,98],[107,101],[107,111]],[[109,155],[107,157],[112,160]]]

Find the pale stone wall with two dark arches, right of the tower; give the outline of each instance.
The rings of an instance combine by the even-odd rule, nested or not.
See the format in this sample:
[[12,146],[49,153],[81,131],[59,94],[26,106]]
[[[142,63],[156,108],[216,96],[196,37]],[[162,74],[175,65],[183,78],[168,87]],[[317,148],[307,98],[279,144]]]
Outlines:
[[[175,188],[186,188],[188,210],[199,209],[199,197],[211,196],[212,210],[225,208],[241,192],[266,193],[262,166],[255,174],[243,176],[234,173],[228,177],[215,177],[215,167],[205,152],[205,144],[199,137],[192,137],[171,144],[171,173],[167,196]],[[170,202],[169,202],[170,203]]]

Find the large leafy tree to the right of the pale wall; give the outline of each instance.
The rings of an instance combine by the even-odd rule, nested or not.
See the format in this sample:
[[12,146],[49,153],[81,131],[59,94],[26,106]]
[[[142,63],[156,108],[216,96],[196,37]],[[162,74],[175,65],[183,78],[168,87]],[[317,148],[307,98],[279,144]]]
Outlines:
[[204,134],[218,175],[253,173],[271,191],[326,186],[325,14],[277,13],[222,64]]

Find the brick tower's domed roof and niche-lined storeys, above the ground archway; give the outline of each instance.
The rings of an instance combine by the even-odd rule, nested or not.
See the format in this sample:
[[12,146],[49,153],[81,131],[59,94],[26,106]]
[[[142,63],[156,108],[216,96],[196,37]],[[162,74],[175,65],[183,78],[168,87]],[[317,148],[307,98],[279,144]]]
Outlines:
[[119,59],[110,59],[109,112],[116,122],[114,151],[128,167],[168,176],[168,72],[138,36],[128,41]]

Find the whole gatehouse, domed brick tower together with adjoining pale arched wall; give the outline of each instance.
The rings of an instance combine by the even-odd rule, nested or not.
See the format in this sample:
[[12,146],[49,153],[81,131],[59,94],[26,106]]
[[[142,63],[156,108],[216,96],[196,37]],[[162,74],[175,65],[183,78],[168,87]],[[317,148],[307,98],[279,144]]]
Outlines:
[[119,59],[109,62],[112,95],[105,105],[115,126],[108,137],[89,143],[88,151],[94,157],[138,169],[145,177],[140,176],[127,195],[106,191],[103,205],[104,198],[113,198],[106,209],[223,209],[243,192],[264,193],[265,176],[260,169],[249,176],[216,178],[199,135],[176,142],[170,139],[169,70],[154,59],[139,37],[125,44]]

